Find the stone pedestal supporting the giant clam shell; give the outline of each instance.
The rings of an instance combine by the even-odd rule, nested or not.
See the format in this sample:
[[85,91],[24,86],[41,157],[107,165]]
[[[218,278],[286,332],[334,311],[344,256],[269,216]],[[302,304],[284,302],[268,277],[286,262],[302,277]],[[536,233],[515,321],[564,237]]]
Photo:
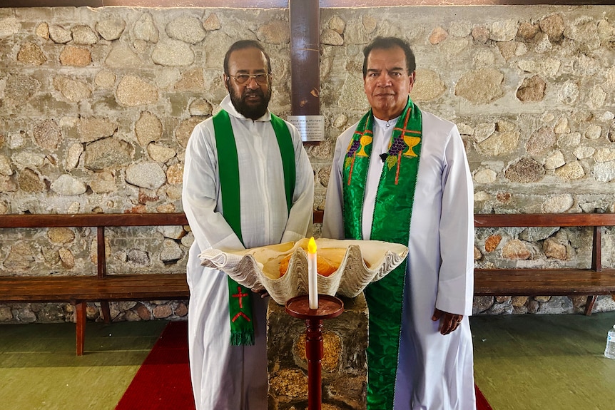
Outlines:
[[[344,312],[323,321],[322,410],[365,409],[367,304],[360,294],[341,298]],[[269,302],[267,314],[269,410],[308,410],[305,320]]]

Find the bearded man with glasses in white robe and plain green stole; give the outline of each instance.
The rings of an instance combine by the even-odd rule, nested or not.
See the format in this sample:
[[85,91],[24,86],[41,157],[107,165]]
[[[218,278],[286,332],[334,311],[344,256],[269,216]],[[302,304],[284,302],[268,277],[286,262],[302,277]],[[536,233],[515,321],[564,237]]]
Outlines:
[[268,298],[201,266],[198,255],[309,236],[314,175],[298,131],[268,110],[263,46],[230,46],[223,79],[221,111],[195,126],[185,151],[183,210],[194,234],[186,267],[190,374],[197,409],[262,410]]

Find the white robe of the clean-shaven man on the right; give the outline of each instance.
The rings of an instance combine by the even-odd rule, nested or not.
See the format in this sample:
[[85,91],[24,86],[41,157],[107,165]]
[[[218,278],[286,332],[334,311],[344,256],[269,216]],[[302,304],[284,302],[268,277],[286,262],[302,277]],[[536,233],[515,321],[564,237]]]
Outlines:
[[[474,292],[472,177],[457,127],[425,111],[422,111],[422,122],[395,410],[474,410],[472,334],[468,320]],[[385,131],[385,123],[375,121],[373,130],[374,145],[363,209],[367,225],[371,225],[375,190],[382,172],[378,155],[387,151],[391,135]],[[337,138],[322,237],[344,237],[342,169],[356,126],[352,125]],[[369,226],[364,226],[363,232],[367,232],[363,239],[370,239]],[[431,319],[434,307],[463,314],[462,324],[451,334],[442,336],[438,331],[439,322]]]

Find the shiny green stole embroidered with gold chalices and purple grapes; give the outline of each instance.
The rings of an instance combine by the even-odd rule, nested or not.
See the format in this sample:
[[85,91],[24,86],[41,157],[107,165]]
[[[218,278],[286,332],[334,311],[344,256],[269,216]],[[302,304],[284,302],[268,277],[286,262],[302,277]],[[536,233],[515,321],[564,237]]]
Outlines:
[[[363,198],[372,154],[372,111],[359,121],[346,153],[343,175],[344,232],[362,238]],[[410,101],[395,124],[376,194],[371,240],[408,245],[421,150],[421,111]],[[377,154],[376,154],[377,155]],[[402,172],[400,172],[402,171]],[[367,409],[393,408],[400,349],[407,260],[365,288],[369,310]]]

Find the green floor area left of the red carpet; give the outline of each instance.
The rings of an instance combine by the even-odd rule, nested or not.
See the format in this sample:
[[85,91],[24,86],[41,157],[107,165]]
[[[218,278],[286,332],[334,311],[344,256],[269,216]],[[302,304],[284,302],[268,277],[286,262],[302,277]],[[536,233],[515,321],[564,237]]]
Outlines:
[[0,409],[113,410],[166,322],[0,325]]

